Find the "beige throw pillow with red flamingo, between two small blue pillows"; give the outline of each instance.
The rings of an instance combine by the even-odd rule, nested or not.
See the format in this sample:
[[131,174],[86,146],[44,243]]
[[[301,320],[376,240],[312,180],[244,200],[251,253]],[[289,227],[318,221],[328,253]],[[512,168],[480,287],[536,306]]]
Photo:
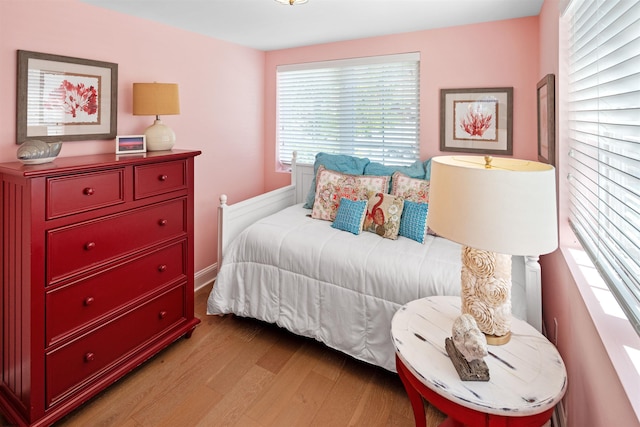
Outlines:
[[369,198],[363,228],[386,239],[397,239],[403,207],[400,197],[376,193]]

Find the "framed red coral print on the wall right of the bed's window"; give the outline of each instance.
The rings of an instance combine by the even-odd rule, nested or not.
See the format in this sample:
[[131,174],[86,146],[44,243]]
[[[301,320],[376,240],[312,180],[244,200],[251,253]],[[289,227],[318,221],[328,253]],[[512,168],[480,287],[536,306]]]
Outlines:
[[513,88],[441,89],[440,150],[513,154]]

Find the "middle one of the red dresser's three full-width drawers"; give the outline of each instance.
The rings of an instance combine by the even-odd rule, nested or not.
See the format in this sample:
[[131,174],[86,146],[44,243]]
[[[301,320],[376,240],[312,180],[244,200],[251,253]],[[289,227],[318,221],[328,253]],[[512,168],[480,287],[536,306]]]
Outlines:
[[186,251],[182,241],[47,292],[47,345],[164,284],[184,280]]

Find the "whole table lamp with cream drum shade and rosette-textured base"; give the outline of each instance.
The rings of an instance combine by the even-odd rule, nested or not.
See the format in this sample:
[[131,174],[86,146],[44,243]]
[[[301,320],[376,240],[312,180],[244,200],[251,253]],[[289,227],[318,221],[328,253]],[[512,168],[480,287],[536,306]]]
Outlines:
[[431,160],[427,223],[463,245],[462,311],[489,344],[508,342],[511,255],[538,256],[558,247],[555,168],[489,156]]

